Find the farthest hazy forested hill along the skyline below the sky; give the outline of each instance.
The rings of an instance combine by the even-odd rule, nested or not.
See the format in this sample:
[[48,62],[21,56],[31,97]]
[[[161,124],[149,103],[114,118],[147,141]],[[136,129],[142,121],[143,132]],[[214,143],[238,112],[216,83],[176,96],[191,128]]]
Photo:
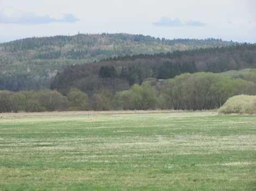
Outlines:
[[26,38],[0,44],[0,89],[49,87],[49,79],[67,65],[136,54],[227,47],[221,39],[160,39],[143,35],[101,34]]

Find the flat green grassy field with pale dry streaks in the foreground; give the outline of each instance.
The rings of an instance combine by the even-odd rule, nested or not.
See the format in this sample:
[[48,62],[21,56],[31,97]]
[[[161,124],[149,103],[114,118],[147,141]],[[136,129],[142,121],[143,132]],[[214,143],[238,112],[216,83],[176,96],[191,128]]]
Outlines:
[[256,190],[256,116],[0,114],[0,190]]

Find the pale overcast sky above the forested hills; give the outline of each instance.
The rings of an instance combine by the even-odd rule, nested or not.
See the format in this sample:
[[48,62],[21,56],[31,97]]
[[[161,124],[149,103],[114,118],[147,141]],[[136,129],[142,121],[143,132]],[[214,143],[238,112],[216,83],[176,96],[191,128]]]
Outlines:
[[256,43],[256,1],[0,0],[0,42],[78,32]]

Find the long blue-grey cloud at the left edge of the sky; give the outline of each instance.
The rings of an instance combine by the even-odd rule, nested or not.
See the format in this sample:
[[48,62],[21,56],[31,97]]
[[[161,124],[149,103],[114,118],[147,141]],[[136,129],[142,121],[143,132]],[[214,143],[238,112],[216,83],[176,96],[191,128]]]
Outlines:
[[7,16],[0,10],[0,23],[4,24],[48,24],[54,22],[74,23],[77,21],[79,21],[79,19],[72,14],[65,14],[63,18],[57,19],[49,15],[36,15],[33,12],[21,13],[18,16]]

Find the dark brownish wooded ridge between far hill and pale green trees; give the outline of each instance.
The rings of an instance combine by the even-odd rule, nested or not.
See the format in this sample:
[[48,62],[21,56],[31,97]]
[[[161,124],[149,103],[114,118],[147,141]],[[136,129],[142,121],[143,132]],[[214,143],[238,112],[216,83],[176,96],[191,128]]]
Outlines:
[[116,57],[67,67],[55,76],[51,88],[62,93],[78,88],[93,95],[104,89],[128,89],[146,78],[167,79],[183,73],[256,68],[256,44],[174,51],[166,54]]

